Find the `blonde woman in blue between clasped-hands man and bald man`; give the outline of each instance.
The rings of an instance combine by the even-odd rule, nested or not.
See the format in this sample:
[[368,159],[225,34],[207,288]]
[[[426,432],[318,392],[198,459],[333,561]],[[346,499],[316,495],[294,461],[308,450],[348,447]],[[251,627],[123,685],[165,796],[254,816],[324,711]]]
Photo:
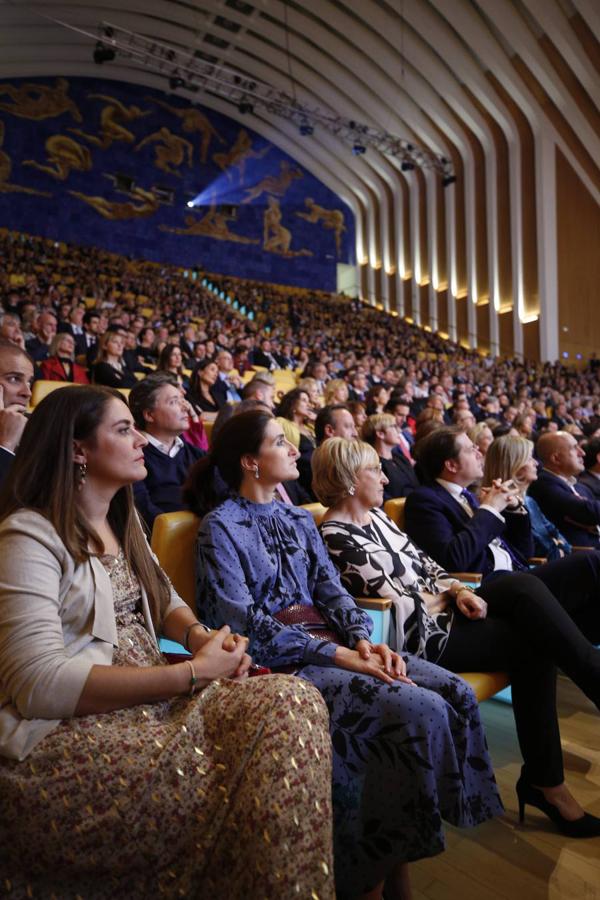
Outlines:
[[546,518],[533,497],[527,493],[529,485],[537,481],[537,463],[533,458],[533,444],[520,435],[504,435],[490,445],[485,457],[483,484],[494,479],[512,480],[516,494],[529,513],[535,555],[548,560],[561,559],[571,552],[571,545],[553,522]]

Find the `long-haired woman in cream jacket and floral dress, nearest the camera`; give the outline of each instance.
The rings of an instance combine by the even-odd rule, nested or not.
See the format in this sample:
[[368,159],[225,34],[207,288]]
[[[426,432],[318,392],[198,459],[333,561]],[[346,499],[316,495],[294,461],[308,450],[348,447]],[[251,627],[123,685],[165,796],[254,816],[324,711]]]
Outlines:
[[[325,705],[245,678],[246,639],[173,592],[132,505],[144,444],[117,392],[63,388],[0,498],[3,886],[333,900]],[[167,665],[159,631],[191,656]]]

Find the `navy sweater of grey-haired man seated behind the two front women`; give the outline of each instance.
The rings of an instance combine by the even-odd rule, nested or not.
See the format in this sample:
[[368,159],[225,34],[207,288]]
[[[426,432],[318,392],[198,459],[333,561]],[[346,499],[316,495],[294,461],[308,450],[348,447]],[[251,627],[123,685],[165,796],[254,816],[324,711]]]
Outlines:
[[181,488],[190,467],[201,456],[204,456],[204,450],[192,447],[187,441],[184,441],[179,453],[173,457],[167,456],[152,444],[144,447],[148,475],[143,481],[134,484],[133,495],[135,505],[148,528],[152,529],[154,519],[160,513],[186,508],[181,498]]

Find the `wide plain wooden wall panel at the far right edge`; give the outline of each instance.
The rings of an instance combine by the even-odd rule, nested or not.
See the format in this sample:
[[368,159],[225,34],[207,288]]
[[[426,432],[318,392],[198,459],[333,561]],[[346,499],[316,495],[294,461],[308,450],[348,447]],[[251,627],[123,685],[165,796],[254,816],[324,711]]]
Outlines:
[[556,192],[559,351],[572,361],[600,345],[600,206],[558,149]]

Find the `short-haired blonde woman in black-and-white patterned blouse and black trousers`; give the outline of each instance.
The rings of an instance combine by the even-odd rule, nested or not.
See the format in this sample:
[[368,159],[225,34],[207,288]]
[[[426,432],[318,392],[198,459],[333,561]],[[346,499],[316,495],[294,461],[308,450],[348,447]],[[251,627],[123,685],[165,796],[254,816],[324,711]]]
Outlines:
[[[489,452],[489,451],[488,451]],[[321,534],[355,596],[391,597],[392,645],[454,672],[504,670],[525,765],[517,784],[570,837],[600,835],[564,783],[556,666],[600,707],[600,650],[532,575],[495,576],[475,594],[419,550],[380,509],[386,482],[368,444],[331,438],[313,454],[313,487],[329,507]]]

